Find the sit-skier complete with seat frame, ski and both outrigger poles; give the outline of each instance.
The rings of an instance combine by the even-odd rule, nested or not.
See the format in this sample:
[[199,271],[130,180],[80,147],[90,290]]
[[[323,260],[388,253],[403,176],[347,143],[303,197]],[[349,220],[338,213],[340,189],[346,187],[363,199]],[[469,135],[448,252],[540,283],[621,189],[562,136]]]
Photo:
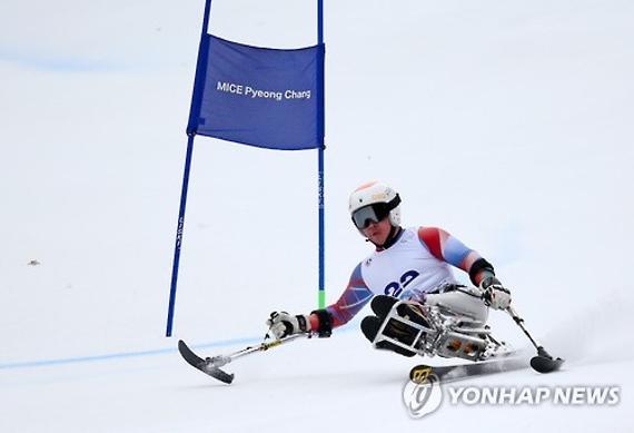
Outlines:
[[[525,366],[522,352],[513,352],[491,335],[486,325],[489,308],[506,311],[528,337],[537,351],[531,358],[535,371],[551,373],[561,368],[564,360],[551,356],[528,333],[491,263],[440,228],[400,227],[400,197],[393,188],[377,181],[361,185],[350,195],[349,210],[356,228],[376,248],[355,267],[336,303],[310,314],[274,312],[267,319],[267,336],[275,341],[228,355],[202,358],[179,341],[178,351],[185,361],[230,384],[234,374],[221,367],[234,360],[313,334],[330,336],[333,328],[370,303],[374,314],[361,321],[361,332],[375,348],[405,356],[437,355],[475,362],[425,366],[426,371],[433,368],[438,380]],[[475,287],[458,284],[449,265],[466,272]],[[412,380],[419,367],[410,372]]]

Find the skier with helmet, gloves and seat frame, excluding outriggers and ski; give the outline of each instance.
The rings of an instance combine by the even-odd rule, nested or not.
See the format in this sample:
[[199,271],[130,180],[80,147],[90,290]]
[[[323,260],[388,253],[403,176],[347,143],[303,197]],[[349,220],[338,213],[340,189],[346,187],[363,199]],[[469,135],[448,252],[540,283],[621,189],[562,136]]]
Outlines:
[[[443,342],[447,347],[433,352],[470,358],[475,350],[469,344],[475,339],[460,337],[456,343],[455,335],[467,335],[463,332],[468,328],[483,329],[488,307],[506,309],[511,304],[511,293],[496,278],[492,264],[440,228],[403,228],[400,197],[383,183],[364,184],[353,191],[349,211],[355,227],[374,244],[375,250],[356,266],[335,304],[310,314],[274,312],[267,321],[269,335],[283,338],[314,332],[330,336],[333,328],[350,321],[374,298],[375,315],[361,321],[361,331],[375,347],[405,356],[420,353],[420,339],[415,342],[414,337],[420,335],[416,334],[418,331],[433,328],[430,312],[435,311],[445,313],[437,315],[442,321],[449,321],[443,322],[444,328],[447,323],[457,324],[458,334],[453,333],[454,339]],[[466,272],[478,289],[458,284],[449,265]],[[455,319],[450,322],[450,317]],[[470,335],[483,333],[475,331]],[[437,339],[435,335],[436,344]],[[493,337],[486,341],[489,346],[494,342],[494,348],[499,346]],[[483,358],[485,347],[479,348],[477,355]]]

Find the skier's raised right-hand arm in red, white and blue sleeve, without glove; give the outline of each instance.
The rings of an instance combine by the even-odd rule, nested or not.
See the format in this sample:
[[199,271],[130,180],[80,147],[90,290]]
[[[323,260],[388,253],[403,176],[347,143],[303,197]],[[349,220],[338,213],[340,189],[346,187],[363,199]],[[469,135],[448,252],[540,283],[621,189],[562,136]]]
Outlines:
[[479,286],[487,277],[494,277],[493,265],[455,236],[438,227],[420,227],[418,239],[434,257],[469,274],[473,284]]

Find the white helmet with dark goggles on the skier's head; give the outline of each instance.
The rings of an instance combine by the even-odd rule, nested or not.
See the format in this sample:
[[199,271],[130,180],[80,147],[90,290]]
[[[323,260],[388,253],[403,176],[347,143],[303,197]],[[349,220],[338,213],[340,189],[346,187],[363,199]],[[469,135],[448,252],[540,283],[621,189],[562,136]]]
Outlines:
[[393,227],[400,226],[400,197],[380,181],[370,181],[355,189],[350,194],[348,210],[359,230],[367,227],[368,220],[378,223],[386,216],[389,216]]

